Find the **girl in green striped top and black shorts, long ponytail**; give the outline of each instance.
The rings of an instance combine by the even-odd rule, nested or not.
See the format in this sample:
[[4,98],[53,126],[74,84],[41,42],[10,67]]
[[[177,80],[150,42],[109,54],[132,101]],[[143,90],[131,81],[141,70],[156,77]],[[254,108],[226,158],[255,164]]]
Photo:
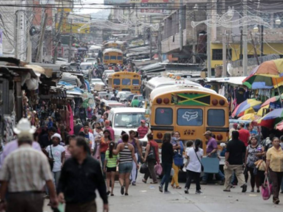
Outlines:
[[110,194],[110,181],[111,181],[111,196],[114,196],[114,182],[115,182],[115,173],[117,168],[117,162],[119,160],[118,155],[113,155],[113,149],[115,147],[115,142],[111,141],[109,143],[109,148],[106,151],[106,156],[103,164],[103,172],[106,172],[106,183],[107,183],[107,195]]

